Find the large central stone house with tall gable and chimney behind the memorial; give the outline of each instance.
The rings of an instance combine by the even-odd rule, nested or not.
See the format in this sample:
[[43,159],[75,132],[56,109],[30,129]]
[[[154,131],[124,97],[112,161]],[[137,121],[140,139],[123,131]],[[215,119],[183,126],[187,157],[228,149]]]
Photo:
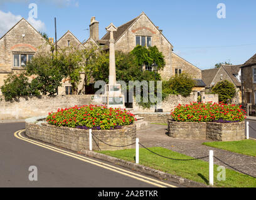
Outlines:
[[[90,38],[98,42],[99,46],[104,49],[109,48],[109,32],[99,39],[99,22],[95,20],[95,17],[91,19]],[[166,61],[166,66],[163,71],[160,71],[163,79],[169,79],[174,74],[185,72],[191,74],[195,79],[201,79],[201,70],[173,53],[173,45],[166,39],[163,30],[159,29],[144,12],[117,27],[114,39],[117,51],[130,52],[137,45],[156,46],[163,53]],[[87,45],[87,42],[84,44]],[[153,70],[152,66],[144,66],[144,69]]]

